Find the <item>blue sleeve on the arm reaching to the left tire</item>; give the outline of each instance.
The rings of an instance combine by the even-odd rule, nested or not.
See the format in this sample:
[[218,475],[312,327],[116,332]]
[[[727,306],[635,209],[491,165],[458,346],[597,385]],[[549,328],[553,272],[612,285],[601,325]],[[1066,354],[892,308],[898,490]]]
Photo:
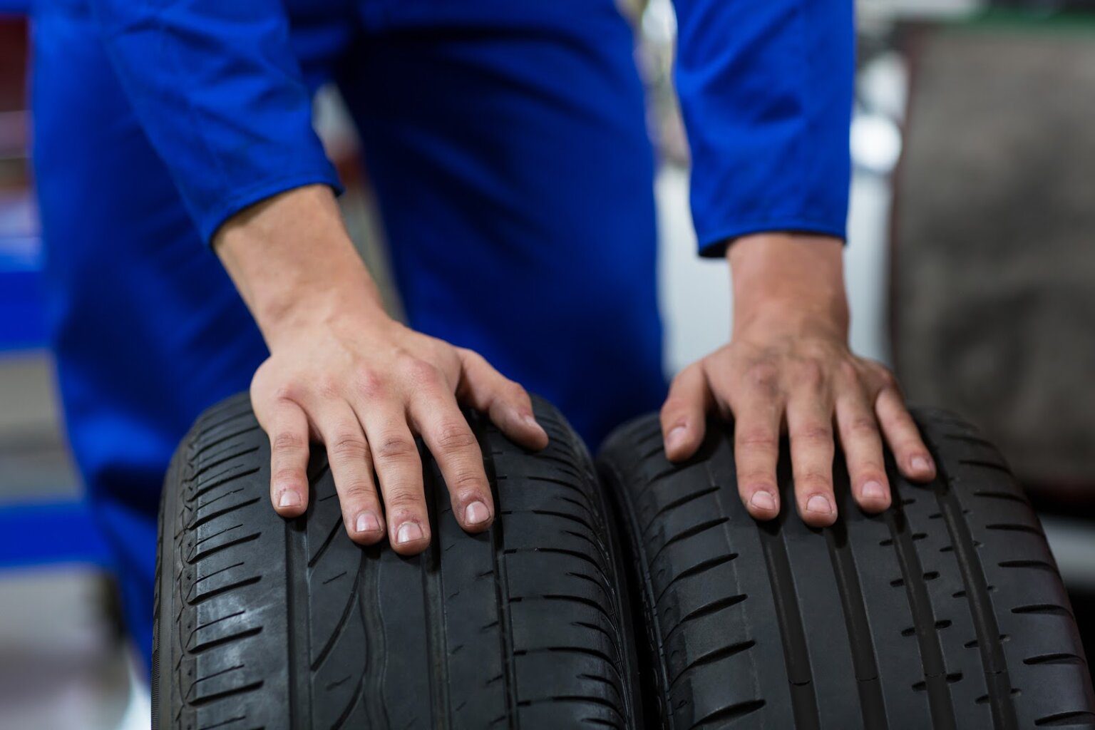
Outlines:
[[310,183],[337,189],[281,2],[93,5],[141,127],[206,242],[233,213],[272,195]]

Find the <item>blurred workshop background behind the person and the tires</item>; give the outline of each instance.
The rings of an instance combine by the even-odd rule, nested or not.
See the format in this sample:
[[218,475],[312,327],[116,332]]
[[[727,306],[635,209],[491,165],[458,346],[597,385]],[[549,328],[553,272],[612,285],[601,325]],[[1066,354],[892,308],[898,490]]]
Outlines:
[[[65,447],[27,162],[26,20],[0,0],[0,730],[147,728],[105,546]],[[1042,514],[1095,638],[1095,3],[860,0],[848,287],[852,346],[910,401],[979,425]],[[659,151],[667,372],[725,343],[671,85],[670,0],[627,0]],[[370,268],[384,245],[337,93],[316,126]],[[394,311],[399,297],[385,294]]]

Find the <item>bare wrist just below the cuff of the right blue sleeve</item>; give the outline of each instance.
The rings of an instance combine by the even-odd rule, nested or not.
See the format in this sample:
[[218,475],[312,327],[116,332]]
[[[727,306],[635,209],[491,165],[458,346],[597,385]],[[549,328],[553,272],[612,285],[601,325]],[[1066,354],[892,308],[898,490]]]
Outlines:
[[744,236],[727,250],[734,329],[818,329],[846,338],[848,296],[839,239],[792,233]]

